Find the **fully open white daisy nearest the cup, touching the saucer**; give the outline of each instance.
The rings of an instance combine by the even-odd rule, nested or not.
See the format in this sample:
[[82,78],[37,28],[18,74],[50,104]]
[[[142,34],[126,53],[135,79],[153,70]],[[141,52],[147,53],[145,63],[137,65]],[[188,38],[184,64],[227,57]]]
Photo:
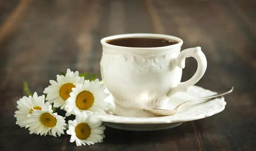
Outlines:
[[109,95],[104,92],[105,88],[105,84],[100,84],[99,79],[76,84],[76,87],[72,88],[70,98],[65,101],[66,116],[79,115],[81,112],[105,114],[104,110],[108,110],[108,103],[104,99]]

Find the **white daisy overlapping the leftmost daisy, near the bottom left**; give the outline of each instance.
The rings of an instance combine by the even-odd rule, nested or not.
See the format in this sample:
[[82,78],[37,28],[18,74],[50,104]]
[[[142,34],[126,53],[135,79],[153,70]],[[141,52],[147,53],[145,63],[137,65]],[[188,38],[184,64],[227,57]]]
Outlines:
[[58,115],[57,113],[52,113],[52,105],[42,104],[41,110],[34,109],[32,114],[29,114],[25,121],[26,128],[29,127],[29,134],[40,134],[41,136],[46,136],[47,134],[57,137],[64,134],[66,129],[64,126],[65,117]]

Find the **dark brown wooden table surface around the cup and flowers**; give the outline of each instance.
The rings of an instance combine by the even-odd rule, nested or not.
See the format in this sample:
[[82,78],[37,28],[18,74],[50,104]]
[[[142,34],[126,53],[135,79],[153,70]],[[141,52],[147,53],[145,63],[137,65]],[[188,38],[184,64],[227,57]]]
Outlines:
[[[255,0],[0,0],[1,151],[255,151]],[[42,137],[15,125],[23,81],[43,94],[60,70],[98,73],[100,39],[157,33],[201,46],[207,71],[196,84],[221,92],[224,111],[163,131],[107,127],[103,143],[76,147],[69,135]],[[186,59],[182,81],[196,70]],[[98,76],[98,78],[101,78]]]

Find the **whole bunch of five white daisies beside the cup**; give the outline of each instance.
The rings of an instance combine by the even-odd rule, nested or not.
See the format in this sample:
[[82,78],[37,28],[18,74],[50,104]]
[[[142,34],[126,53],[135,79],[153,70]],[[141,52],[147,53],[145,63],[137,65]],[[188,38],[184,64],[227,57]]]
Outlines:
[[[104,99],[109,94],[104,92],[105,84],[99,83],[99,79],[84,80],[85,76],[67,69],[66,74],[57,75],[56,81],[49,81],[51,85],[44,89],[46,97],[38,96],[37,92],[32,95],[25,84],[24,91],[29,96],[17,101],[16,124],[28,128],[29,134],[44,136],[60,137],[67,130],[70,142],[76,141],[77,146],[102,142],[105,126],[98,115],[108,110]],[[65,116],[75,115],[76,119],[66,123],[66,117],[58,115],[56,108],[66,111]]]

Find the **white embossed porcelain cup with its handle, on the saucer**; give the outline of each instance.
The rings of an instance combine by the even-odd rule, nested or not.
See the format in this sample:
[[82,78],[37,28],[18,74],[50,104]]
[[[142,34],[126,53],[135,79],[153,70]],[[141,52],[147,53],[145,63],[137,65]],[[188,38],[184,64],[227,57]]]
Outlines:
[[[131,48],[106,43],[120,38],[161,38],[178,43],[156,48]],[[207,60],[200,47],[180,52],[182,39],[163,34],[122,34],[101,39],[100,62],[102,80],[113,95],[114,115],[149,117],[147,108],[165,108],[169,97],[186,91],[205,73]],[[186,57],[198,62],[195,75],[180,82]]]

